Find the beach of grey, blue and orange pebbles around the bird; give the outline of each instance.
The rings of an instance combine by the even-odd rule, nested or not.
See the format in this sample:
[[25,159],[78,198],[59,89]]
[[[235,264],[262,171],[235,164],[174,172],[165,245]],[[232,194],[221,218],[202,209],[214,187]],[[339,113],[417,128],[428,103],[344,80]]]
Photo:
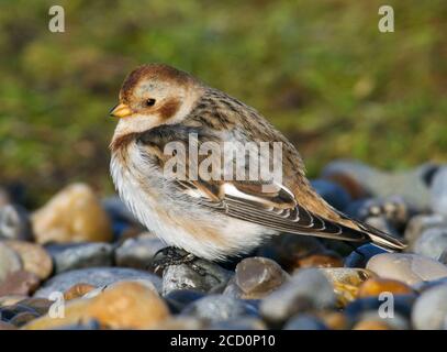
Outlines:
[[26,209],[0,185],[0,330],[446,330],[447,166],[334,161],[312,185],[407,248],[284,233],[154,272],[166,245],[119,197],[70,184]]

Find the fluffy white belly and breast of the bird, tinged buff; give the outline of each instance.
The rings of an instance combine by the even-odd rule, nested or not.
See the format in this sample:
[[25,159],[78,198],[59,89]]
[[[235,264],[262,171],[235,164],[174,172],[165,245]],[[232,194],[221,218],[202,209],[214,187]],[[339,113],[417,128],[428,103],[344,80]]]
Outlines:
[[[114,185],[134,216],[168,245],[215,261],[249,252],[267,235],[276,233],[258,224],[206,211],[192,198],[172,195],[166,187],[167,180],[154,166],[147,165],[135,144],[126,151],[126,165],[119,155],[112,155]],[[206,231],[213,235],[203,235]]]

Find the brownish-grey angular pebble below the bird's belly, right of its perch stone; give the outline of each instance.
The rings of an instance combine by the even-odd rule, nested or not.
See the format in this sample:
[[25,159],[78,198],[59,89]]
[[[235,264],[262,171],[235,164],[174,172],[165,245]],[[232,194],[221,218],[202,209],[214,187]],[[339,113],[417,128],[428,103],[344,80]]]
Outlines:
[[244,299],[259,299],[289,278],[281,266],[265,257],[248,257],[241,261],[236,266],[235,284],[241,288]]

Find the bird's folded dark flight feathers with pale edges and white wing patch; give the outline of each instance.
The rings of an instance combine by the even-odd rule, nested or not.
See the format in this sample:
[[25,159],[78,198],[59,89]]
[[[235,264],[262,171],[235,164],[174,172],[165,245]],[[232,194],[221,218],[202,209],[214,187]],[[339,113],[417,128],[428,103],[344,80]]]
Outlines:
[[[360,231],[308,211],[283,186],[278,186],[277,191],[265,193],[262,185],[255,183],[222,183],[211,186],[204,182],[179,182],[179,185],[190,196],[199,198],[204,207],[280,232],[346,241],[368,239]],[[249,193],[247,188],[250,189]]]

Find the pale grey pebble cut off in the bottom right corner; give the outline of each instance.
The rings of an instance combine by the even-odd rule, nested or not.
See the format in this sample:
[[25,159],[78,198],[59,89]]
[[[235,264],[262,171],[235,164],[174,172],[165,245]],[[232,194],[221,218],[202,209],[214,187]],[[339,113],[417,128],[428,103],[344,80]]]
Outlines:
[[417,330],[447,329],[447,285],[422,293],[414,304],[412,323]]

